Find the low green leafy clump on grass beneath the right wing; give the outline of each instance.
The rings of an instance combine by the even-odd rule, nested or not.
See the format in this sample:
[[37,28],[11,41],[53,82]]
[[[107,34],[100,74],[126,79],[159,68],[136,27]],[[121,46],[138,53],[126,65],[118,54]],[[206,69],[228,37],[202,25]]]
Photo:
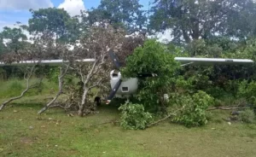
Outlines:
[[207,124],[207,108],[212,105],[213,98],[204,91],[199,91],[193,96],[180,96],[177,106],[181,106],[181,112],[172,119],[172,122],[187,127]]

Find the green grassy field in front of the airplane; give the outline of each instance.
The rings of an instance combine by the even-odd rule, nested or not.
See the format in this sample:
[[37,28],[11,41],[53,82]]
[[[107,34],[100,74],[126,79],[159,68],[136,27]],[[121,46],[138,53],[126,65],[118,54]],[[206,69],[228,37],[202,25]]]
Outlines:
[[[15,83],[16,84],[16,83]],[[5,90],[11,83],[2,84]],[[4,93],[5,90],[0,90]],[[47,95],[48,96],[48,95]],[[168,121],[145,131],[125,131],[103,122],[119,119],[114,106],[84,118],[69,117],[50,109],[40,117],[44,95],[26,96],[0,113],[0,156],[224,156],[254,157],[256,125],[233,123],[222,118],[229,112],[212,112],[211,122],[198,128]],[[6,96],[0,98],[0,102]]]

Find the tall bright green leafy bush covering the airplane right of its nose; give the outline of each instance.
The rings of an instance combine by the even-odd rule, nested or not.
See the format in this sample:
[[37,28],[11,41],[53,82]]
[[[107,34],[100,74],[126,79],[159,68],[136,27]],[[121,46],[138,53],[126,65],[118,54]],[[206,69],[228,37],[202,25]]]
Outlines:
[[121,69],[127,78],[137,77],[137,73],[156,73],[154,78],[141,78],[137,98],[144,106],[157,108],[163,105],[162,96],[175,85],[178,63],[166,47],[155,40],[148,40],[143,47],[135,49]]

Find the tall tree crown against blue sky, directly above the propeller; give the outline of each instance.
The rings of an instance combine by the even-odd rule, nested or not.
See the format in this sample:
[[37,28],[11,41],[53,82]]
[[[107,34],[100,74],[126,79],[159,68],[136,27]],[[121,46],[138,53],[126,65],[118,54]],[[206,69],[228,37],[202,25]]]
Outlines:
[[115,27],[122,26],[129,32],[136,32],[142,30],[146,22],[142,7],[138,0],[102,0],[96,9],[88,11],[84,20],[90,24],[108,20]]

